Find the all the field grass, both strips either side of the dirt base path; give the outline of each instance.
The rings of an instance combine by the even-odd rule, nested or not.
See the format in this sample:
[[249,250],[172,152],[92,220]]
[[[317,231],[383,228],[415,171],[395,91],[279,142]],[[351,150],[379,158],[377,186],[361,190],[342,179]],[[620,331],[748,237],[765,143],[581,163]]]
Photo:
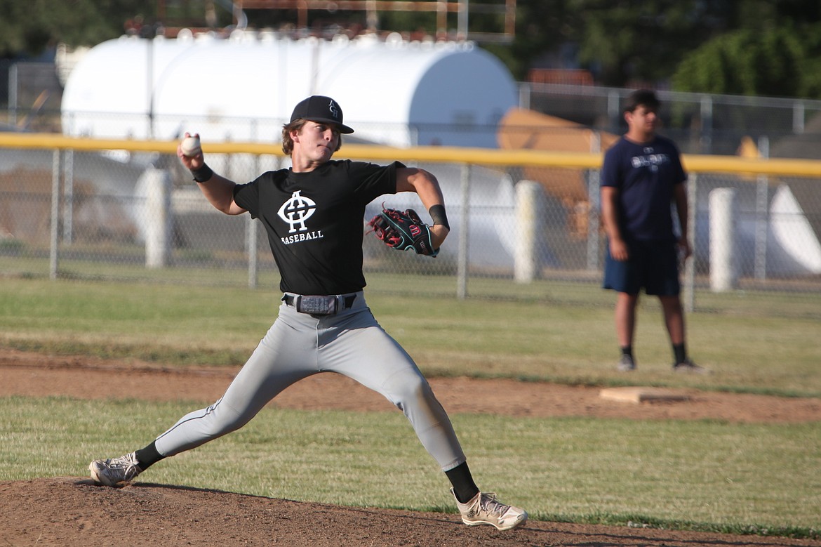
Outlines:
[[[0,344],[236,365],[268,329],[277,304],[274,292],[243,288],[3,278]],[[369,306],[428,375],[628,381],[613,370],[608,306],[388,296],[378,289]],[[642,383],[819,397],[817,319],[756,313],[688,319],[692,354],[714,374],[670,374],[660,311],[647,301],[636,340]],[[0,480],[82,474],[89,454],[118,455],[142,445],[190,408],[0,398]],[[164,462],[151,480],[452,510],[444,477],[401,414],[277,411],[276,419],[266,419],[268,412],[236,434]],[[821,423],[452,418],[480,484],[515,492],[534,518],[819,536]]]

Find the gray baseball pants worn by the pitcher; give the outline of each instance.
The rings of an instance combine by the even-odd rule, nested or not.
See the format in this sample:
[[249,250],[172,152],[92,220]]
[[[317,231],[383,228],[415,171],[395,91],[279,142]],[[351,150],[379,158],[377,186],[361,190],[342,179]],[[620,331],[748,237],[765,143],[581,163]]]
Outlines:
[[155,446],[163,456],[173,456],[238,430],[283,389],[320,372],[346,375],[382,393],[405,414],[443,471],[465,462],[451,421],[428,381],[379,326],[362,292],[336,315],[307,315],[283,302],[277,320],[222,398],[183,416]]

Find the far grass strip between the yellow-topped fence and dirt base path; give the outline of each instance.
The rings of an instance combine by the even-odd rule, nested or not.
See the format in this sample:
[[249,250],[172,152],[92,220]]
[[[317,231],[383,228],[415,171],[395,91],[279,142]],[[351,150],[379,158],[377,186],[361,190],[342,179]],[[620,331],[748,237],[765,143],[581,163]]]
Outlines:
[[[593,306],[544,299],[393,296],[383,292],[380,281],[368,293],[369,306],[426,374],[595,385],[635,381],[614,369],[618,349],[612,307],[602,304],[612,295],[601,289],[569,283],[548,289],[575,291],[579,302],[598,298]],[[795,297],[782,296],[783,305]],[[690,353],[713,370],[709,376],[669,374],[672,351],[661,311],[655,301],[644,298],[635,340],[642,381],[821,396],[819,319],[773,315],[782,303],[773,303],[772,295],[745,298],[750,308],[753,300],[763,301],[760,313],[750,309],[687,318]],[[239,365],[270,326],[278,305],[277,293],[263,289],[3,278],[0,343],[165,364]]]

